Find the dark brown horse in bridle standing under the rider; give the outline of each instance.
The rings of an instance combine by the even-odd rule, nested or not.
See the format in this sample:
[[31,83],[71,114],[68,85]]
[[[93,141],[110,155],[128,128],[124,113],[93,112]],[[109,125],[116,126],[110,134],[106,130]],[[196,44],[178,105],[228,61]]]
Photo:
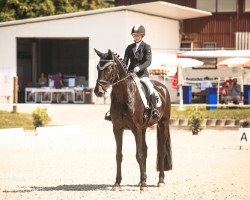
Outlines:
[[102,53],[94,49],[100,57],[97,65],[98,78],[94,93],[97,97],[103,97],[107,89],[112,86],[110,116],[113,124],[113,132],[116,141],[116,181],[112,190],[121,189],[121,163],[122,163],[122,140],[124,130],[131,130],[136,141],[136,160],[140,168],[140,190],[147,190],[147,144],[146,129],[157,123],[157,171],[159,171],[158,187],[165,185],[164,171],[172,169],[172,150],[169,131],[170,121],[170,95],[165,85],[158,81],[152,81],[155,90],[159,93],[162,101],[160,108],[157,108],[160,117],[145,120],[146,108],[142,102],[138,87],[132,78],[132,73],[127,71],[127,66],[119,55],[111,50]]

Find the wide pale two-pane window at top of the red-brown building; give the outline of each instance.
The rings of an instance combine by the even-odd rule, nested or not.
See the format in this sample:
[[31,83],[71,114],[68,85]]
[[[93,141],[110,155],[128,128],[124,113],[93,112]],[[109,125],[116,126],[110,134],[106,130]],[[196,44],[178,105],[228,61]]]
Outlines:
[[237,0],[196,0],[196,8],[209,12],[236,12]]

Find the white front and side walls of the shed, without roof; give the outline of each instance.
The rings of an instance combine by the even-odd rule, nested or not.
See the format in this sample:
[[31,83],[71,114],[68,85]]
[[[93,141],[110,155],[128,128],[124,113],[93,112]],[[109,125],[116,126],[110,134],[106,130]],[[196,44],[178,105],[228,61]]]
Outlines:
[[133,42],[130,33],[136,24],[145,26],[144,41],[151,45],[153,52],[179,48],[178,21],[131,11],[116,11],[0,27],[0,68],[12,68],[16,72],[17,37],[85,37],[89,38],[89,84],[93,87],[99,60],[94,48],[101,52],[111,49],[123,57],[125,48]]

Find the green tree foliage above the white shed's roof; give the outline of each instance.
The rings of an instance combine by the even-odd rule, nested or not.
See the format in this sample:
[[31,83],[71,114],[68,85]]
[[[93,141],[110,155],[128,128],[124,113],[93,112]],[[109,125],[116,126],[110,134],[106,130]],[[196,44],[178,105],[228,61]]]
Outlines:
[[0,0],[0,22],[110,7],[103,0]]

